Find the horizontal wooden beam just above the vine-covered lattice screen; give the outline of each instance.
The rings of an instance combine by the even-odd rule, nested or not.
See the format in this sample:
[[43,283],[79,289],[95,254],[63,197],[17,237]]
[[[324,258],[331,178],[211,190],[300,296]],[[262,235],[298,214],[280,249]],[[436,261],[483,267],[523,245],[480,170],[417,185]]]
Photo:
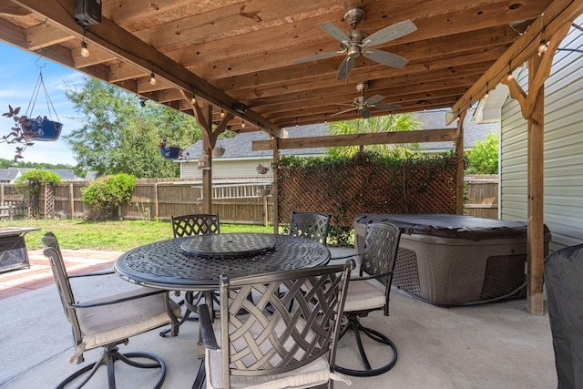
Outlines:
[[[422,129],[418,131],[375,132],[373,134],[335,135],[307,138],[277,139],[279,149],[331,148],[336,146],[384,145],[394,143],[424,143],[454,140],[457,128]],[[253,151],[271,150],[271,140],[254,140]]]

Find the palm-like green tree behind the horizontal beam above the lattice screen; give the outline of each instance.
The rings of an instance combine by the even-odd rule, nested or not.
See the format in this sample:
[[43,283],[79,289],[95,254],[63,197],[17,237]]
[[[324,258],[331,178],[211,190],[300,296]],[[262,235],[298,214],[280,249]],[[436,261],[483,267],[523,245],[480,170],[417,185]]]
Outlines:
[[[328,124],[331,135],[371,134],[377,132],[412,131],[419,129],[421,122],[411,114],[396,114],[373,118],[337,121]],[[367,145],[363,148],[380,155],[392,156],[396,159],[406,159],[421,149],[418,143],[394,145]],[[360,151],[358,146],[333,147],[327,152],[332,156],[352,157]]]

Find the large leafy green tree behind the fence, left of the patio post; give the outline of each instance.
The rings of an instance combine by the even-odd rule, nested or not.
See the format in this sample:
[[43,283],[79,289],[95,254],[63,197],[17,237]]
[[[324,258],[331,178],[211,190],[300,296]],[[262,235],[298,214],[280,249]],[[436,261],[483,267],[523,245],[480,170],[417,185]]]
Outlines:
[[178,177],[179,164],[159,155],[160,140],[186,148],[202,138],[194,118],[94,78],[80,89],[67,88],[66,97],[85,125],[64,138],[78,166],[97,176]]

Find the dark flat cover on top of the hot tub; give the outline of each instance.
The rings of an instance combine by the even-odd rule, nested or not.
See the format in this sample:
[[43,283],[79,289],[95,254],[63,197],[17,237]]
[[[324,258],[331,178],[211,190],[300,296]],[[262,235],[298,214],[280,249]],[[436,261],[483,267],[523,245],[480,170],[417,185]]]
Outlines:
[[[475,218],[450,214],[372,214],[361,213],[354,223],[367,224],[374,221],[393,223],[408,235],[420,234],[442,238],[467,240],[505,239],[527,237],[527,223]],[[550,241],[550,231],[545,226],[545,241]]]

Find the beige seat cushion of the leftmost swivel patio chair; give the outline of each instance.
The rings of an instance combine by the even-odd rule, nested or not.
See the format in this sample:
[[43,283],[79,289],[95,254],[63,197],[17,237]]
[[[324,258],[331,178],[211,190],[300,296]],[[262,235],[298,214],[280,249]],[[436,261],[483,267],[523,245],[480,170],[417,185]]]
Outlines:
[[[138,288],[131,292],[107,296],[107,301],[155,291],[151,288]],[[86,303],[93,302],[99,302],[99,300]],[[175,316],[179,317],[179,305],[170,300],[170,307]],[[81,333],[83,333],[82,348],[85,350],[116,343],[170,322],[162,293],[128,302],[79,308],[77,318]]]

